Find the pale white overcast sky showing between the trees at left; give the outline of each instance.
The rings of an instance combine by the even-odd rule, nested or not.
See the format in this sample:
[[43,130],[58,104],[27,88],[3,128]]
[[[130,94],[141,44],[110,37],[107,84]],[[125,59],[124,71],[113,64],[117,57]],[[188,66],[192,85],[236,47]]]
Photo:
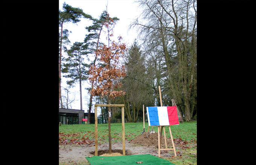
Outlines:
[[[135,30],[130,30],[128,32],[128,26],[134,18],[137,18],[141,10],[137,8],[137,4],[133,3],[134,0],[59,0],[59,9],[62,10],[63,3],[71,5],[72,7],[79,7],[83,10],[84,13],[90,14],[93,18],[99,18],[101,13],[104,10],[108,10],[110,17],[117,17],[120,20],[117,22],[114,27],[114,36],[112,40],[117,41],[117,36],[122,36],[123,42],[126,43],[126,46],[130,46],[133,43],[134,39],[137,38],[137,33]],[[107,8],[106,8],[106,5]],[[92,25],[92,21],[81,19],[79,23],[76,24],[65,24],[64,28],[67,28],[69,31],[72,31],[69,35],[69,40],[71,45],[74,42],[83,42],[85,34],[88,34],[85,27]],[[106,37],[101,37],[102,42],[107,42]],[[106,43],[105,43],[106,44]],[[68,48],[70,46],[67,46]],[[67,87],[66,79],[62,77],[61,81],[62,87]],[[90,98],[88,91],[85,90],[85,86],[88,86],[87,83],[84,83],[82,86],[82,104],[83,110],[87,113],[88,106],[85,99]],[[76,101],[75,104],[72,104],[72,109],[80,109],[80,95],[79,95],[79,83],[76,84],[76,87],[71,90],[71,92],[76,92]],[[63,93],[63,92],[62,92]],[[69,96],[70,97],[70,96]],[[69,107],[70,108],[70,107]],[[93,108],[94,110],[94,108]]]

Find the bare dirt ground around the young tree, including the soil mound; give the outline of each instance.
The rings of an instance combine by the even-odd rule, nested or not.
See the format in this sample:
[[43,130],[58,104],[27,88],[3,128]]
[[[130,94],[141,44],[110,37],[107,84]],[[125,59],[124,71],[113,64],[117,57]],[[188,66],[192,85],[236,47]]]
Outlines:
[[[166,138],[167,147],[172,148],[171,138]],[[177,142],[176,142],[177,143]],[[175,147],[176,147],[175,143]],[[112,151],[120,151],[122,154],[122,142],[112,143]],[[162,135],[161,148],[165,148],[165,139]],[[108,143],[98,145],[98,155],[108,153]],[[85,157],[94,154],[95,144],[69,144],[59,145],[59,163],[74,161],[74,162],[88,162]],[[125,141],[126,155],[134,154],[151,154],[158,157],[158,133],[151,133],[147,138],[147,132],[143,135],[137,136],[133,141]],[[174,151],[163,150],[161,151],[162,157],[174,156]]]

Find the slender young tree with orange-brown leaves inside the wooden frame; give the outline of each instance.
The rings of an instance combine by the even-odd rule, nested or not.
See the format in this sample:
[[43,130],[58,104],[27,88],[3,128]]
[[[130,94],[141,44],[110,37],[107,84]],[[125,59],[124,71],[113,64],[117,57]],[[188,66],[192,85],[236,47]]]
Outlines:
[[[108,104],[111,104],[111,99],[125,95],[124,91],[118,90],[118,88],[122,87],[121,80],[126,75],[125,66],[120,66],[119,58],[123,57],[127,49],[125,43],[120,43],[122,40],[121,36],[118,37],[118,43],[112,41],[111,46],[109,45],[111,41],[110,36],[113,36],[113,33],[110,34],[110,32],[112,32],[114,26],[114,20],[109,17],[109,14],[107,14],[107,22],[104,23],[104,26],[108,30],[108,46],[104,44],[96,50],[95,59],[99,57],[101,63],[90,66],[90,76],[88,79],[93,85],[90,94],[92,96],[107,96]],[[108,107],[109,114],[111,114],[110,110],[110,107]],[[111,153],[110,115],[108,115],[108,142],[108,153]]]

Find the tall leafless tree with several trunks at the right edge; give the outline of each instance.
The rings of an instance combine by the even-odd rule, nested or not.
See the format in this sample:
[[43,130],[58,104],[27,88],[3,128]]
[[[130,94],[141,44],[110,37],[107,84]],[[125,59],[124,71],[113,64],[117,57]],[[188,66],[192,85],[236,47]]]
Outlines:
[[[166,71],[161,72],[165,77],[157,79],[163,86],[163,96],[183,102],[185,120],[190,121],[197,78],[196,0],[139,0],[137,3],[143,13],[130,27],[138,28],[148,54],[163,58],[164,66],[161,62],[159,66]],[[170,103],[171,98],[163,101]]]

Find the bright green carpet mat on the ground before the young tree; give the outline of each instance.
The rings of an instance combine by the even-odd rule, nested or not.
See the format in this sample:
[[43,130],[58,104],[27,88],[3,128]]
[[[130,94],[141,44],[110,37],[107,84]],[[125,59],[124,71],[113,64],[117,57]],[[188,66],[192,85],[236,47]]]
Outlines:
[[86,157],[86,159],[91,163],[91,165],[174,165],[168,160],[161,159],[150,154],[127,156],[93,156]]

